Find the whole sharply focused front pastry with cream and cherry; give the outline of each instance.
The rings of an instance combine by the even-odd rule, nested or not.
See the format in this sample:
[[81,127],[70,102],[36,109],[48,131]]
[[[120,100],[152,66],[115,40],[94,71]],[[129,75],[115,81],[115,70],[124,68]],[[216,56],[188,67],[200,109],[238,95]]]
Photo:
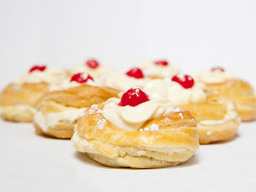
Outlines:
[[88,108],[72,143],[93,160],[111,167],[160,168],[188,161],[198,149],[196,122],[164,97],[150,98],[129,88]]

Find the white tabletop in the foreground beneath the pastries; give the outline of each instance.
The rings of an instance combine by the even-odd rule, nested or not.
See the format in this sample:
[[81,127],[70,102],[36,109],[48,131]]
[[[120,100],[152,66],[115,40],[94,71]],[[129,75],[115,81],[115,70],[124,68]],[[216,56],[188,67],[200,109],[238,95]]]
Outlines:
[[0,122],[1,191],[255,191],[256,122],[229,142],[201,145],[172,168],[108,168],[70,140],[35,134],[31,124]]

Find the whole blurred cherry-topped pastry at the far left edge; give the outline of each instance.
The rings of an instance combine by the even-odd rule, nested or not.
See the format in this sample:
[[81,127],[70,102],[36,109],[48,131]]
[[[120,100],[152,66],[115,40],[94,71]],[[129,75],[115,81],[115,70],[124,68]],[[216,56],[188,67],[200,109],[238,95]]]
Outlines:
[[15,79],[0,95],[2,118],[14,122],[31,122],[36,112],[35,105],[49,84],[66,76],[60,69],[34,66],[29,73]]

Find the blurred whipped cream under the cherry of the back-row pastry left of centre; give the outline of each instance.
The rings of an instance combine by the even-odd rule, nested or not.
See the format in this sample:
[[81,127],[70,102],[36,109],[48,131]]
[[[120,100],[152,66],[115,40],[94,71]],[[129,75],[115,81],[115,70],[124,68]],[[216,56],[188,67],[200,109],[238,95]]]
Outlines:
[[76,65],[75,67],[71,68],[71,74],[77,74],[81,72],[86,72],[90,74],[92,77],[102,77],[108,76],[109,73],[112,72],[111,68],[99,66],[97,68],[90,68],[87,67],[85,64],[83,65]]

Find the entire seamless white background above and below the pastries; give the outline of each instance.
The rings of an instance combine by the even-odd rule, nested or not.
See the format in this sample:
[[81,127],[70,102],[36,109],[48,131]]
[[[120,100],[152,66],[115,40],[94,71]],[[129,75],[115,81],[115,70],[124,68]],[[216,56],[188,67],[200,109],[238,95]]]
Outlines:
[[[72,67],[94,57],[122,69],[166,58],[186,72],[221,65],[255,87],[256,1],[0,1],[0,88],[34,63]],[[1,122],[3,191],[255,191],[256,124],[159,170],[106,168],[68,140]],[[85,162],[84,162],[85,161]],[[122,187],[121,187],[122,186]],[[1,190],[2,191],[2,190]]]

